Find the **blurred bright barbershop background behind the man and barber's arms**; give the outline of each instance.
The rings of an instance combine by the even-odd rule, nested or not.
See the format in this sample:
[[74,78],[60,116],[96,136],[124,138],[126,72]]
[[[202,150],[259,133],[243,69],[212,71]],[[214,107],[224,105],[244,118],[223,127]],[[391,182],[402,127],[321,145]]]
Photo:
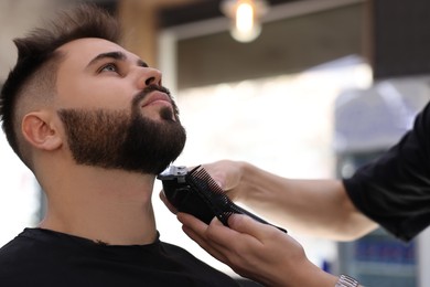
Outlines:
[[[125,46],[163,72],[189,135],[176,166],[234,159],[289,178],[350,177],[430,96],[428,0],[248,0],[252,23],[238,0],[1,0],[0,85],[17,59],[12,39],[79,2],[117,15]],[[182,233],[159,190],[161,240],[236,276]],[[40,187],[1,134],[0,246],[43,214]],[[383,230],[335,243],[284,227],[327,272],[365,286],[430,286],[429,231],[408,244]]]

